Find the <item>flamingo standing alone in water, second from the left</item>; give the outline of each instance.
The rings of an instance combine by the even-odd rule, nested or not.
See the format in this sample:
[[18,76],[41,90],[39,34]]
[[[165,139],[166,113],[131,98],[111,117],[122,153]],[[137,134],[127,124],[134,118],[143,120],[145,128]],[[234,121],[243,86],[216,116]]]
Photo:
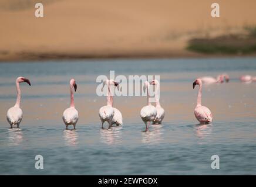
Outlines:
[[78,110],[75,108],[75,102],[74,102],[74,93],[73,89],[78,88],[78,85],[76,85],[75,79],[71,79],[69,82],[70,85],[70,107],[64,110],[63,112],[63,122],[66,125],[66,129],[68,129],[69,125],[73,125],[74,129],[76,129],[76,123],[78,122]]

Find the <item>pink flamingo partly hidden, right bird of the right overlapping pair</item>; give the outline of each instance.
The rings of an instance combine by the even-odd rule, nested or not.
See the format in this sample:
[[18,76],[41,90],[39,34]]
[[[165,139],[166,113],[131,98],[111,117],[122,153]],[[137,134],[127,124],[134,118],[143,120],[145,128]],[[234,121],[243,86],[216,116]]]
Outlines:
[[160,102],[159,102],[159,89],[160,89],[160,84],[157,79],[154,79],[153,81],[150,82],[152,85],[156,85],[156,110],[157,110],[157,115],[156,118],[153,121],[153,124],[161,124],[162,120],[164,119],[164,109],[161,107]]

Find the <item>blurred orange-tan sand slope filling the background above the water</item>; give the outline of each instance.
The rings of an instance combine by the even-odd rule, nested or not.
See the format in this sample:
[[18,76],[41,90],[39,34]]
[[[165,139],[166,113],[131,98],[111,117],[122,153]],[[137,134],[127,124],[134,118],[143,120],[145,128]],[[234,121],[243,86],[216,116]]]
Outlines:
[[186,50],[193,37],[241,32],[256,25],[256,1],[208,0],[0,2],[0,61],[62,58],[205,57]]

